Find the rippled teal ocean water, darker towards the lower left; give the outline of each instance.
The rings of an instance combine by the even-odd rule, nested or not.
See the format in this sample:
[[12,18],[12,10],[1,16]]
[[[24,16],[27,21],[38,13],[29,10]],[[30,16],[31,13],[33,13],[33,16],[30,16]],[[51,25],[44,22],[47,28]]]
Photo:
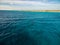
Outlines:
[[60,45],[60,12],[0,10],[0,45]]

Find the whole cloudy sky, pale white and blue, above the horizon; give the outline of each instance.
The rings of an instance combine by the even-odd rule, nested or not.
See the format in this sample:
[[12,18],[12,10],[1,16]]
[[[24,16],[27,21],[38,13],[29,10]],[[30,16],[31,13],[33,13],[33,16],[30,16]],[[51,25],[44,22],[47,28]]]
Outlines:
[[[4,2],[5,1],[5,2]],[[0,0],[1,9],[60,10],[60,0]]]

